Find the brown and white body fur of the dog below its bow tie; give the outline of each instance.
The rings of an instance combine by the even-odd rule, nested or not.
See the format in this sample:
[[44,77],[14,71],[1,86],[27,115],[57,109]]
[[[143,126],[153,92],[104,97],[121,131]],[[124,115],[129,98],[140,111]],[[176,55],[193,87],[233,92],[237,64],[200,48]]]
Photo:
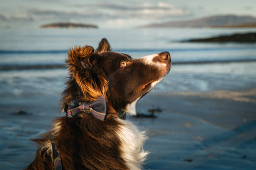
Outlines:
[[136,170],[142,168],[148,155],[142,147],[145,133],[131,122],[114,115],[108,115],[102,122],[82,114],[57,118],[49,133],[34,139],[39,144],[36,155],[41,156],[36,156],[27,169],[54,169],[50,134],[62,156],[64,169]]

